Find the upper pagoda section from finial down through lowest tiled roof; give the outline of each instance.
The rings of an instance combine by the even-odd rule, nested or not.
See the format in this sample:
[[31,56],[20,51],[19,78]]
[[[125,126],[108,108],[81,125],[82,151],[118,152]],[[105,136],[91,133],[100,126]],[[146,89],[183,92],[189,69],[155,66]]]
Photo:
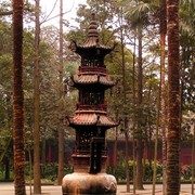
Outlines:
[[[99,42],[98,24],[94,14],[92,14],[87,41],[82,46],[77,46],[75,42],[73,49],[81,56],[79,73],[72,77],[73,86],[78,88],[81,93],[86,90],[86,93],[80,99],[87,99],[87,103],[84,101],[79,102],[75,116],[68,118],[69,126],[74,128],[78,126],[96,126],[104,129],[118,126],[107,117],[107,106],[104,103],[104,98],[102,98],[104,91],[115,84],[109,79],[104,65],[104,56],[110,53],[113,49],[114,47],[106,47]],[[99,94],[95,91],[102,95],[98,96]],[[95,95],[98,101],[94,101]]]

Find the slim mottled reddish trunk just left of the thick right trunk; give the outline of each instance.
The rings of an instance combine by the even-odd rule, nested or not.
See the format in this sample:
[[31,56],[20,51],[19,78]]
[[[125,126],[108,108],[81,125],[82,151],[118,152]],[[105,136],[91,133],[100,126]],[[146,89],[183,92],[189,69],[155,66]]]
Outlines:
[[160,0],[159,34],[160,34],[160,104],[161,104],[161,141],[162,141],[162,193],[166,195],[166,164],[167,164],[167,139],[166,139],[166,90],[165,90],[165,44],[167,34],[167,9],[166,0]]

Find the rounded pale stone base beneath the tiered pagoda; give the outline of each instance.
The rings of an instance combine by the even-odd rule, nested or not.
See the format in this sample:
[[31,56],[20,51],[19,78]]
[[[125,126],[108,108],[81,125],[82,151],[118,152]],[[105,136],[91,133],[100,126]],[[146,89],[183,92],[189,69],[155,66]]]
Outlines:
[[63,195],[112,194],[116,195],[115,177],[106,173],[72,173],[66,174],[62,184]]

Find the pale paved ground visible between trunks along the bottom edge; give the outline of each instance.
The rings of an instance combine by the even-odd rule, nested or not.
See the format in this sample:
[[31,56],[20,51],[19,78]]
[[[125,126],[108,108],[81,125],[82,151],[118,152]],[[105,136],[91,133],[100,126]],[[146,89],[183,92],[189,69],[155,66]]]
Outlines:
[[[180,195],[191,195],[191,184],[182,184]],[[132,195],[132,185],[130,186],[130,193],[126,192],[126,185],[117,186],[117,195]],[[161,184],[156,185],[156,195],[162,195]],[[144,191],[136,191],[136,195],[152,195],[152,185],[144,185]],[[62,195],[62,187],[58,185],[43,185],[41,186],[43,195]],[[29,186],[26,186],[27,195],[30,194]],[[0,195],[14,195],[14,185],[13,183],[0,183]]]

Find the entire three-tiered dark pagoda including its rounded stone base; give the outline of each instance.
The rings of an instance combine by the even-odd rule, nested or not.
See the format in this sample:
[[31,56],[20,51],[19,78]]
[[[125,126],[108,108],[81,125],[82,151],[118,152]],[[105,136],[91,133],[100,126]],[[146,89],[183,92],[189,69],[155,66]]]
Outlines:
[[104,57],[113,48],[99,42],[98,24],[92,14],[88,39],[82,46],[74,43],[74,51],[81,56],[78,75],[73,86],[79,90],[79,103],[69,126],[76,130],[73,153],[74,173],[63,179],[65,194],[116,194],[116,179],[106,169],[106,130],[117,123],[107,117],[105,90],[115,83],[109,80]]

